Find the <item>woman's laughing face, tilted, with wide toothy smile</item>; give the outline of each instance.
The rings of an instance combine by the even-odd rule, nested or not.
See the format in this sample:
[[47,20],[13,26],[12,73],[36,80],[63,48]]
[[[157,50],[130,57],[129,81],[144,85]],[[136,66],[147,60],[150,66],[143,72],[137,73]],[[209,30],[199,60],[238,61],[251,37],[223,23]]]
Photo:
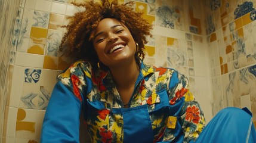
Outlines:
[[114,18],[100,21],[93,45],[100,61],[109,68],[135,61],[136,44],[131,32]]

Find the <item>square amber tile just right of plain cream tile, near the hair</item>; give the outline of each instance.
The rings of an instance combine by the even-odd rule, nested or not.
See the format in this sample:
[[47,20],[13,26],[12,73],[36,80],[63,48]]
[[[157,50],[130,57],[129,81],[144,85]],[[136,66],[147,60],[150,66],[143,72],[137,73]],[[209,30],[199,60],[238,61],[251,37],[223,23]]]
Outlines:
[[57,70],[58,69],[58,57],[45,56],[43,68]]

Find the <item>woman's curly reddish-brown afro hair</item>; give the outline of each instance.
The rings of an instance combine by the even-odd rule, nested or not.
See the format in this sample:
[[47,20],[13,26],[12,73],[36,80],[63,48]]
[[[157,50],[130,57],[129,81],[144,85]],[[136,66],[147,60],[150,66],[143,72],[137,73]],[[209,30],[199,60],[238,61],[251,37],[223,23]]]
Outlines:
[[61,26],[67,29],[60,44],[60,51],[73,60],[85,59],[97,66],[98,57],[95,52],[92,40],[95,29],[104,18],[115,18],[124,23],[131,32],[134,41],[138,43],[135,59],[144,59],[144,44],[147,43],[147,36],[152,36],[152,24],[143,18],[142,12],[134,11],[134,2],[118,4],[117,0],[109,2],[93,0],[81,4],[72,3],[77,7],[84,7],[85,11],[75,13],[67,17],[69,24]]

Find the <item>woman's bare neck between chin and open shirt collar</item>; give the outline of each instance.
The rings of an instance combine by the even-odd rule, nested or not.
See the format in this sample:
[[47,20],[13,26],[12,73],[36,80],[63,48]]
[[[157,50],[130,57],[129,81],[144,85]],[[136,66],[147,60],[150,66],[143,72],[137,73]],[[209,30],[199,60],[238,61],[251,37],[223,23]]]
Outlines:
[[140,68],[134,59],[127,64],[122,64],[118,67],[111,67],[110,72],[117,87],[128,87],[134,86],[140,72]]

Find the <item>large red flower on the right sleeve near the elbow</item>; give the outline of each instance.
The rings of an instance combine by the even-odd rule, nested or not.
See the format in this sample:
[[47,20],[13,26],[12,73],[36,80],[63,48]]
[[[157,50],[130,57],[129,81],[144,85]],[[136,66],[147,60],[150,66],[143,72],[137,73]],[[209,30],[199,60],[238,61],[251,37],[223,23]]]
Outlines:
[[199,114],[200,114],[200,110],[195,105],[193,105],[192,107],[187,107],[186,120],[188,120],[189,122],[192,121],[193,123],[198,124],[199,120],[201,119]]

